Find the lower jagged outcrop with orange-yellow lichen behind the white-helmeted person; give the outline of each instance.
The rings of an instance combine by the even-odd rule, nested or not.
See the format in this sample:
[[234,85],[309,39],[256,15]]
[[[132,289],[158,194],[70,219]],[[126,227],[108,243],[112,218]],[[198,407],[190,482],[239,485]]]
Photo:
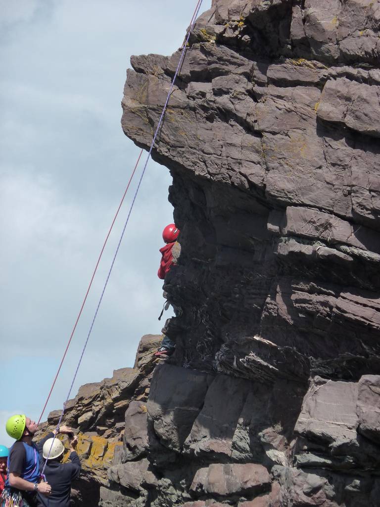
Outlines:
[[[150,380],[157,361],[153,352],[160,345],[162,336],[146,335],[141,338],[133,368],[113,372],[112,378],[85,384],[77,396],[66,405],[62,424],[71,426],[78,436],[77,452],[82,463],[80,478],[72,484],[72,504],[93,507],[98,505],[100,488],[108,484],[107,473],[119,456],[129,457],[123,448],[123,438],[131,443],[133,452],[142,445],[141,427],[133,426],[127,414],[146,414],[146,400]],[[49,414],[48,420],[39,426],[37,440],[54,431],[61,411]],[[127,417],[127,424],[126,424]],[[135,436],[135,440],[134,440]],[[66,437],[58,436],[68,449]],[[64,456],[68,459],[69,452]]]

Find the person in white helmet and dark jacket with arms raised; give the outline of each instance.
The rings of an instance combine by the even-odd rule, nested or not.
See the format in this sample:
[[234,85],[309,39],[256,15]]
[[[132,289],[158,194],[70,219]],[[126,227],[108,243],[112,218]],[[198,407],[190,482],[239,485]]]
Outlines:
[[78,438],[73,436],[72,429],[67,426],[61,426],[60,433],[66,433],[68,436],[70,462],[62,463],[65,448],[60,440],[54,438],[53,433],[49,433],[38,444],[41,456],[41,470],[47,460],[44,475],[52,490],[49,498],[37,494],[37,507],[69,507],[71,482],[78,479],[81,473],[81,461],[77,451],[75,451]]

